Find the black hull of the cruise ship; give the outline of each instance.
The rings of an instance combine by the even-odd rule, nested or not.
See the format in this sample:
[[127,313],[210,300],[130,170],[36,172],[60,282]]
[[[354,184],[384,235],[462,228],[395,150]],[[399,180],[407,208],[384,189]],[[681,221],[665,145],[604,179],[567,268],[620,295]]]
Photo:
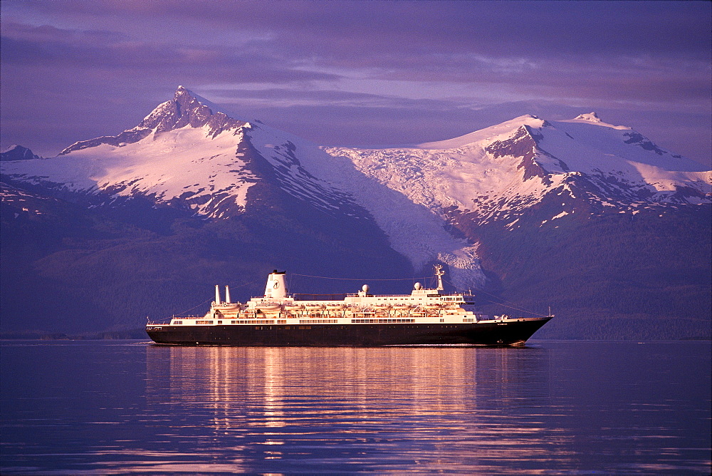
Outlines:
[[310,324],[300,326],[156,326],[156,343],[184,346],[408,346],[524,343],[550,319],[476,324]]

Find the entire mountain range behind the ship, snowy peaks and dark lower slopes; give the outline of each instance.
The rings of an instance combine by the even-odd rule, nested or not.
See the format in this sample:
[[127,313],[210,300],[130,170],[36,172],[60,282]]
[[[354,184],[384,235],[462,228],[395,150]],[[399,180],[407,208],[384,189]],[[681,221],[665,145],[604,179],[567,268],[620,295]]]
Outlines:
[[[712,172],[595,113],[526,115],[410,148],[320,148],[179,87],[135,128],[4,160],[2,173],[11,316],[28,314],[25,286],[39,282],[84,296],[67,326],[109,309],[101,330],[197,302],[185,289],[217,276],[395,279],[440,262],[483,302],[552,305],[562,317],[543,336],[709,335]],[[396,284],[409,286],[382,290]],[[30,307],[48,328],[54,307]]]

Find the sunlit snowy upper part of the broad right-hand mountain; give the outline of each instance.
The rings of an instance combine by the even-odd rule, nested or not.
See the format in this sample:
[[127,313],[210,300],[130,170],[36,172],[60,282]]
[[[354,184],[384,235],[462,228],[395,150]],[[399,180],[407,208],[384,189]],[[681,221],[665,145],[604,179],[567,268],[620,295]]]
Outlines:
[[[710,202],[712,172],[596,113],[553,122],[524,115],[416,148],[326,150],[441,217],[466,214],[478,224],[496,219],[515,226],[548,194],[630,213]],[[560,216],[575,212],[566,201]]]

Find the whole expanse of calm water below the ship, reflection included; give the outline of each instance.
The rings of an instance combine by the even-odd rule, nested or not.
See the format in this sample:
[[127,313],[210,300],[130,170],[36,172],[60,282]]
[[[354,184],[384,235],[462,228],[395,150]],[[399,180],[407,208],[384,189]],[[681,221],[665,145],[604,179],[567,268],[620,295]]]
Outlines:
[[1,343],[2,474],[703,473],[710,343]]

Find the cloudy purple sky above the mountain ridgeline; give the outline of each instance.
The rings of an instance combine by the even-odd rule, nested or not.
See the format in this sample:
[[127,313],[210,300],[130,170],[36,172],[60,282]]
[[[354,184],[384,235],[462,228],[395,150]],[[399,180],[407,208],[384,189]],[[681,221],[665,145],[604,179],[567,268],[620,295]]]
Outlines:
[[325,145],[595,110],[711,157],[708,1],[0,2],[1,144],[51,156],[178,85]]

